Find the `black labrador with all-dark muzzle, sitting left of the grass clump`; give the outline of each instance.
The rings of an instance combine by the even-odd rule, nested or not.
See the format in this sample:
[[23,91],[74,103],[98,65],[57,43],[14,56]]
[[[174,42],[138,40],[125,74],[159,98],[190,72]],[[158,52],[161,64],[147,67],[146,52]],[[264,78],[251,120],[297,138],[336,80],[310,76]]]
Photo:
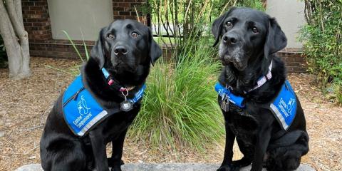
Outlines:
[[[125,134],[140,110],[141,91],[150,63],[161,54],[150,29],[137,21],[117,20],[102,28],[79,76],[78,83],[83,83],[83,88],[74,90],[76,93],[64,102],[63,98],[69,98],[65,97],[66,92],[73,89],[69,86],[48,115],[41,137],[43,169],[102,171],[111,167],[113,171],[121,170]],[[86,94],[81,95],[85,90],[97,102],[97,107],[104,109],[103,118],[92,118],[95,110],[90,108],[96,106],[87,104]],[[75,104],[69,112],[76,115],[71,125],[66,116],[69,104]],[[89,118],[92,120],[87,123]],[[92,123],[93,119],[98,123]],[[88,132],[72,129],[86,124],[90,126],[83,129]],[[106,155],[108,142],[113,145],[110,158]]]

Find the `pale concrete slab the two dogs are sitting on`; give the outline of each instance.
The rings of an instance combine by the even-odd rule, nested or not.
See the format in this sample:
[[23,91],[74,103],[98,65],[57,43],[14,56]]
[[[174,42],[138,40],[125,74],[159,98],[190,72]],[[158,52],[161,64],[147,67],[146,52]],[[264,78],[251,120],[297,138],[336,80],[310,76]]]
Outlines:
[[[219,164],[202,163],[133,163],[122,166],[123,171],[216,171]],[[242,168],[240,171],[249,171],[251,166]],[[266,169],[264,169],[266,171]],[[40,164],[24,165],[16,171],[43,171]],[[296,171],[315,171],[309,165],[302,164]]]

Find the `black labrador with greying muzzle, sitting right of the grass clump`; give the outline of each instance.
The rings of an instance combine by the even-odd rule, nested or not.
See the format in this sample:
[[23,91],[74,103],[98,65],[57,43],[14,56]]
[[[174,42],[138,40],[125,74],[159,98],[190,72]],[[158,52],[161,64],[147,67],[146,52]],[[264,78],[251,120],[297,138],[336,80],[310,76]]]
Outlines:
[[[219,16],[212,33],[224,66],[215,87],[226,129],[218,170],[239,170],[251,163],[253,171],[264,166],[296,170],[309,151],[309,136],[299,99],[286,81],[284,62],[275,55],[286,46],[284,32],[267,14],[240,7]],[[284,102],[282,92],[292,95],[291,100]],[[280,110],[274,109],[276,103]],[[235,138],[244,157],[232,161]]]

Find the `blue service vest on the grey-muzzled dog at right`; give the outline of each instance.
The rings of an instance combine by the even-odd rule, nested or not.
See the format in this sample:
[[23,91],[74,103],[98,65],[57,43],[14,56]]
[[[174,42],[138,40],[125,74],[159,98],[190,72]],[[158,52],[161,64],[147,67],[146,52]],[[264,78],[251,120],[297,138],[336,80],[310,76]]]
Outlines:
[[[227,100],[234,105],[239,106],[239,108],[245,108],[244,98],[239,95],[234,95],[228,88],[224,88],[220,83],[215,85],[215,90],[219,93],[219,96],[227,96]],[[271,110],[281,127],[284,130],[287,130],[294,121],[297,110],[296,93],[294,93],[294,89],[291,87],[289,81],[286,80],[284,82],[278,95],[271,103],[262,105],[261,107]]]

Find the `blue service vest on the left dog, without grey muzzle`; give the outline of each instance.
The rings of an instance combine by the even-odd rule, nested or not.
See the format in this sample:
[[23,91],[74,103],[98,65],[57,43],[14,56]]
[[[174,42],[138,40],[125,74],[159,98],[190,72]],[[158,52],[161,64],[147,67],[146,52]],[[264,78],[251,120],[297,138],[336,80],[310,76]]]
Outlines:
[[[133,104],[138,102],[142,98],[144,90],[145,84],[135,94],[135,97],[129,100]],[[117,110],[110,111],[104,109],[84,88],[81,75],[77,76],[64,92],[62,105],[64,120],[66,120],[71,131],[78,136],[86,135],[89,130],[109,115],[120,112],[120,107]]]

